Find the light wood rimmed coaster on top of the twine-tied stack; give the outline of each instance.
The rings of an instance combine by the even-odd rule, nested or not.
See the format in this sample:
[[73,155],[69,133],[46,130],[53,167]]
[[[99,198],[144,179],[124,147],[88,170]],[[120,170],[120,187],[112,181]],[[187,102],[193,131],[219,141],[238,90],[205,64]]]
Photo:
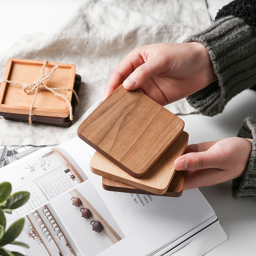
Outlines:
[[[10,59],[7,62],[3,79],[30,84],[39,78],[43,64],[44,61],[41,60]],[[73,89],[76,66],[48,62],[45,72],[49,73],[56,64],[59,65],[59,68],[55,70],[50,80],[44,81],[44,84],[54,88]],[[64,94],[71,101],[72,91],[59,90],[58,92]],[[0,87],[0,112],[28,115],[33,98],[34,92],[26,94],[22,86],[3,82]],[[68,104],[65,100],[55,96],[48,90],[40,90],[38,92],[33,115],[68,117],[68,111]]]

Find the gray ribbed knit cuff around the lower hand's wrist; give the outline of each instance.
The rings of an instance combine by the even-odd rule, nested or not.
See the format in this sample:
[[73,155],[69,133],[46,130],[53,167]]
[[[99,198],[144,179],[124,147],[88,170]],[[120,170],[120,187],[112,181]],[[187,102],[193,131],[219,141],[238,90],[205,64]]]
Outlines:
[[247,117],[237,134],[237,137],[252,139],[252,153],[244,176],[233,180],[232,195],[235,198],[256,199],[256,122]]

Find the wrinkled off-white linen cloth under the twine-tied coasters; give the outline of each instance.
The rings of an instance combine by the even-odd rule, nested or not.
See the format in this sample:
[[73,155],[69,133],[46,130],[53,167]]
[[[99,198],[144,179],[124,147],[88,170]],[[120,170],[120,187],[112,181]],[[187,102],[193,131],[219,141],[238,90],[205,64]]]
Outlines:
[[[75,137],[79,124],[101,103],[110,74],[132,49],[182,42],[210,24],[204,0],[94,0],[86,1],[54,33],[22,36],[0,55],[0,77],[9,58],[73,63],[82,77],[80,104],[69,128],[31,126],[1,118],[0,145],[51,145]],[[186,99],[166,108],[174,114],[196,112]]]

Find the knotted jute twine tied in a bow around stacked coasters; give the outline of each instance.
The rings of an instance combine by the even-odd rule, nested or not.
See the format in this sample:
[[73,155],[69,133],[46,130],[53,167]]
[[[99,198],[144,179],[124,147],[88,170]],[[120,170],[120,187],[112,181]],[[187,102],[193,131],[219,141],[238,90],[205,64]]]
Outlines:
[[[58,96],[58,97],[62,98],[63,100],[65,100],[68,103],[69,119],[71,121],[73,120],[73,109],[72,109],[71,102],[68,100],[68,98],[64,94],[56,92],[56,91],[57,90],[72,91],[74,93],[74,95],[76,96],[77,103],[80,102],[74,89],[70,89],[70,88],[52,88],[52,87],[48,87],[46,84],[43,83],[44,81],[50,80],[53,72],[57,68],[59,68],[59,65],[55,65],[48,74],[44,74],[45,66],[47,65],[47,63],[48,63],[48,61],[45,60],[44,61],[44,65],[43,65],[42,70],[41,70],[41,75],[39,76],[39,78],[35,82],[33,82],[31,84],[21,84],[21,83],[10,81],[10,80],[1,80],[0,81],[0,85],[2,84],[2,82],[6,82],[6,83],[10,83],[10,84],[16,84],[16,85],[21,85],[23,87],[24,92],[27,93],[27,94],[29,94],[30,92],[33,92],[35,90],[33,102],[32,102],[32,104],[30,106],[29,118],[28,118],[28,123],[31,124],[31,125],[33,124],[32,123],[32,110],[33,110],[33,107],[34,107],[34,104],[35,104],[35,100],[36,100],[36,95],[38,93],[38,89],[39,89],[40,86],[43,86],[42,89],[46,89],[46,90],[52,92],[55,96]],[[30,89],[30,90],[28,90],[28,89]]]

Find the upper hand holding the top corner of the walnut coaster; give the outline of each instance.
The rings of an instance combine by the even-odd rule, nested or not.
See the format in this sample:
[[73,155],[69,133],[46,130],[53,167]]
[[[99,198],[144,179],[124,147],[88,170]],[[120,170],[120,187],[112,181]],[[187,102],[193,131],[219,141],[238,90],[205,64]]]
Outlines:
[[104,99],[123,83],[127,90],[139,88],[166,105],[216,80],[209,53],[201,43],[143,45],[117,65],[108,80]]

